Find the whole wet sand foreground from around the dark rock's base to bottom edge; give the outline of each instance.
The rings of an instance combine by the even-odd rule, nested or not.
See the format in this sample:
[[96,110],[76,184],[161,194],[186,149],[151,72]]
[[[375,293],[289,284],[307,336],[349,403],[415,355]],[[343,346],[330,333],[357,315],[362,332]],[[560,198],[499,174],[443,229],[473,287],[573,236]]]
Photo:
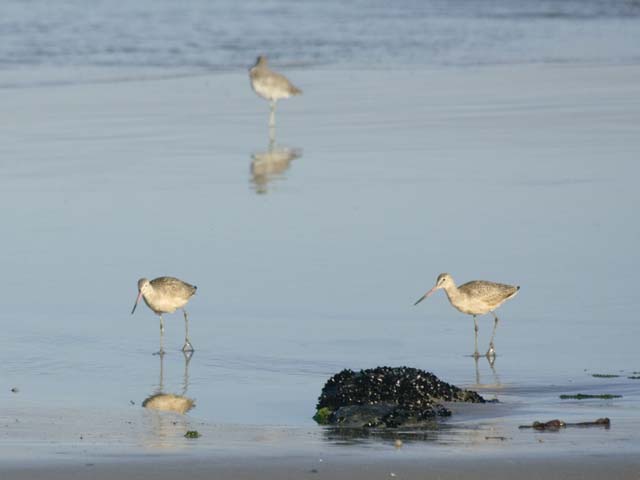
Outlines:
[[[500,403],[450,403],[435,430],[362,432],[320,426],[232,425],[186,415],[126,409],[2,411],[3,479],[73,478],[637,478],[638,388],[598,384],[618,400],[560,401],[539,388],[478,385]],[[556,399],[556,400],[554,400]],[[520,429],[534,420],[588,421],[610,428]],[[197,439],[185,433],[197,430]],[[392,475],[393,474],[393,475]]]

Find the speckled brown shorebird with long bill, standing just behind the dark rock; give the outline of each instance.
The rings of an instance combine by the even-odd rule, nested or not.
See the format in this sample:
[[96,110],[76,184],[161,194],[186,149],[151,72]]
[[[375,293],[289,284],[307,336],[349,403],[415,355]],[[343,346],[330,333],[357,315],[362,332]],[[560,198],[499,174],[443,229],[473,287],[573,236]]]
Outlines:
[[496,328],[498,327],[498,316],[494,310],[510,298],[513,298],[518,293],[518,290],[520,290],[520,287],[488,282],[486,280],[473,280],[464,285],[460,285],[460,287],[456,287],[451,275],[441,273],[438,275],[435,286],[420,297],[414,305],[419,304],[433,292],[440,289],[444,289],[449,298],[449,302],[456,309],[467,315],[473,315],[475,327],[475,351],[473,356],[475,358],[480,356],[478,353],[478,321],[476,320],[476,316],[491,312],[493,318],[495,318],[495,322],[493,324],[493,333],[491,334],[491,341],[489,342],[489,350],[487,350],[486,357],[495,357],[496,349],[493,345],[493,339],[496,335]]

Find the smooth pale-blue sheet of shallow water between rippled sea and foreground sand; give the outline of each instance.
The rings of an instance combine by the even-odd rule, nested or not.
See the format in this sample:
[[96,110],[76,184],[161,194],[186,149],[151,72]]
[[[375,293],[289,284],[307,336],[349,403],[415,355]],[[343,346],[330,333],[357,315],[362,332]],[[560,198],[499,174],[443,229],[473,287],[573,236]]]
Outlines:
[[[637,67],[288,73],[306,93],[276,144],[300,155],[261,185],[267,107],[244,74],[0,92],[4,420],[140,418],[161,386],[195,398],[187,423],[313,429],[330,375],[409,365],[508,406],[454,416],[445,444],[637,424]],[[522,286],[493,369],[441,292],[412,306],[441,271]],[[157,317],[129,312],[137,279],[164,274],[199,289],[196,352],[187,369],[167,317],[160,385]],[[624,397],[558,398],[577,392]]]

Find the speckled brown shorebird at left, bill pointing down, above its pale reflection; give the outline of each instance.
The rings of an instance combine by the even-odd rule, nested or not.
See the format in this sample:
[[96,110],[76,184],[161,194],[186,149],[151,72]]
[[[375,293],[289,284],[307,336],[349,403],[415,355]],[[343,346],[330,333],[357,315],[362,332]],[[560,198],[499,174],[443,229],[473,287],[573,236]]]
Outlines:
[[138,280],[138,298],[133,305],[131,315],[136,311],[136,307],[141,298],[144,303],[155,313],[160,316],[160,351],[158,354],[164,354],[163,337],[164,337],[164,321],[163,313],[173,313],[178,308],[182,308],[184,313],[184,346],[183,352],[193,352],[193,346],[189,341],[189,317],[184,306],[189,299],[196,293],[198,287],[190,285],[174,277],[158,277],[149,281],[146,278]]

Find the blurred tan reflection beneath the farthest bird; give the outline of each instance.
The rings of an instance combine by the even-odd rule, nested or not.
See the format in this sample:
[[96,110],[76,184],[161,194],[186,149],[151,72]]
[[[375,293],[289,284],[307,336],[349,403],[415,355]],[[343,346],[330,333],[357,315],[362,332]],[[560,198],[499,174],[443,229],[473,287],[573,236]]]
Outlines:
[[301,156],[302,150],[299,148],[276,145],[275,128],[269,128],[267,150],[251,155],[251,182],[256,193],[267,193],[269,183],[283,178],[291,161]]

